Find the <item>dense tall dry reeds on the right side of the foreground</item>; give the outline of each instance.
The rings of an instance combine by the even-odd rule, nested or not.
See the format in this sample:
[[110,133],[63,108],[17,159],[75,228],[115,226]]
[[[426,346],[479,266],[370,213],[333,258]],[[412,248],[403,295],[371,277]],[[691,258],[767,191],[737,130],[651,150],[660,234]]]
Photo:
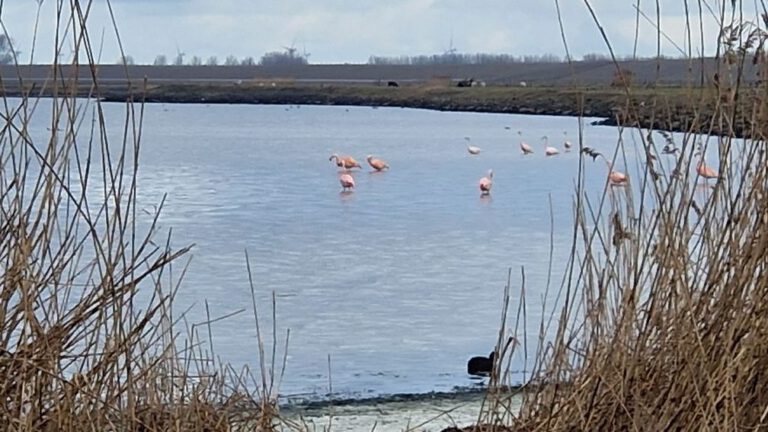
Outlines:
[[[725,102],[712,117],[692,118],[691,130],[709,125],[731,133],[655,142],[644,132],[633,149],[645,157],[630,171],[631,187],[606,185],[595,200],[580,180],[578,241],[559,328],[531,380],[539,385],[506,423],[513,430],[768,427],[764,120],[751,122],[751,139],[732,138],[737,117],[762,119],[768,109],[768,81],[747,89],[741,75],[754,62],[765,76],[768,14],[762,10],[762,19],[750,23],[742,21],[739,2],[722,7],[725,60],[716,91]],[[729,102],[740,98],[751,99],[751,113]],[[621,131],[616,153],[608,155],[617,166],[632,146],[631,132]],[[662,154],[667,144],[681,151]],[[699,146],[717,150],[719,162],[710,151],[707,163],[719,178],[697,174]],[[591,161],[582,163],[591,168]]]

